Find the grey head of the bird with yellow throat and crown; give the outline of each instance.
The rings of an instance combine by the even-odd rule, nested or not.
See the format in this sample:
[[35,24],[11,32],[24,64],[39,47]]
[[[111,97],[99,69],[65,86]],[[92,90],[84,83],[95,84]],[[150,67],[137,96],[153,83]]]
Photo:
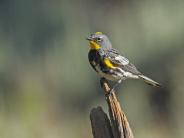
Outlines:
[[89,40],[91,49],[108,50],[112,48],[110,40],[102,32],[96,32],[94,34],[91,34],[89,37],[87,37],[87,40]]

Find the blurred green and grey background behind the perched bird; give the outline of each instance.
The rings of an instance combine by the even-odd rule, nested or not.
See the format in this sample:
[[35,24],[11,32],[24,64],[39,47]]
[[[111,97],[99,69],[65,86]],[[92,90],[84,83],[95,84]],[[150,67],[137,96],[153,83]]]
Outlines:
[[184,1],[0,0],[1,138],[92,138],[90,110],[107,112],[87,59],[96,31],[164,86],[117,88],[135,137],[184,137]]

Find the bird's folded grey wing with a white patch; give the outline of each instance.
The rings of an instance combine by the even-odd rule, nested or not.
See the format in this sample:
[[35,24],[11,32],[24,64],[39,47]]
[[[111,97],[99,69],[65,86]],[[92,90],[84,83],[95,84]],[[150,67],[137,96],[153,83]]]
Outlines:
[[129,62],[129,60],[121,55],[116,49],[110,49],[107,51],[106,57],[110,60],[114,66],[118,66],[126,72],[130,72],[135,75],[140,75],[141,73],[137,68]]

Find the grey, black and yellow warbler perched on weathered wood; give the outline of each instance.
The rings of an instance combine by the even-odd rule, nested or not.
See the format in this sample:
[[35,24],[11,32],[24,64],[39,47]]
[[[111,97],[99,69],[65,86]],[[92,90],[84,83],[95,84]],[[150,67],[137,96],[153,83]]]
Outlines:
[[161,86],[144,76],[127,58],[113,49],[110,40],[102,32],[91,34],[87,40],[91,48],[88,53],[91,66],[100,77],[117,82],[114,87],[127,78],[141,79],[152,86]]

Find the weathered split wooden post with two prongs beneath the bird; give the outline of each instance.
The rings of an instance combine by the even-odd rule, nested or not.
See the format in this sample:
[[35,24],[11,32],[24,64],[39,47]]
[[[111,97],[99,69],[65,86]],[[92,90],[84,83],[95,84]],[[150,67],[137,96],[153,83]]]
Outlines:
[[[107,80],[101,79],[100,82],[106,95],[110,121],[100,107],[93,108],[90,114],[93,137],[134,138],[128,120],[116,98],[115,91],[109,94],[111,88]],[[111,124],[109,122],[111,122]]]

